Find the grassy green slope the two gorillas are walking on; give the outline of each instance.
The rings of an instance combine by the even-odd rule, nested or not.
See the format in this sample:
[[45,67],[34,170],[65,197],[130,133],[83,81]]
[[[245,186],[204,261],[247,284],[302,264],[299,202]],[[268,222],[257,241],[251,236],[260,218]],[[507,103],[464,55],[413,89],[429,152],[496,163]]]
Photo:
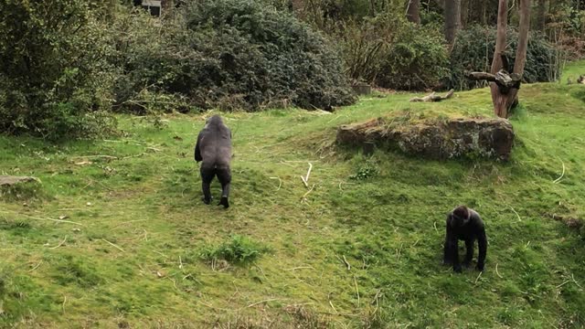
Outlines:
[[[579,70],[585,63],[568,68]],[[410,104],[409,94],[363,99],[331,115],[226,115],[235,149],[228,211],[199,200],[192,147],[200,116],[169,117],[164,130],[122,117],[129,136],[96,143],[0,136],[0,172],[39,177],[44,195],[27,206],[0,201],[0,326],[287,321],[282,314],[299,304],[336,327],[375,319],[388,327],[583,326],[585,241],[550,218],[585,218],[583,90],[523,86],[509,164],[365,158],[327,147],[339,124],[389,111],[490,115],[488,90],[436,104]],[[131,157],[76,164],[90,154]],[[315,187],[301,203],[307,161]],[[365,164],[378,176],[349,178]],[[444,215],[460,203],[487,225],[480,278],[441,266]],[[81,225],[47,220],[60,216]],[[198,259],[231,234],[271,252],[256,266],[223,271]]]

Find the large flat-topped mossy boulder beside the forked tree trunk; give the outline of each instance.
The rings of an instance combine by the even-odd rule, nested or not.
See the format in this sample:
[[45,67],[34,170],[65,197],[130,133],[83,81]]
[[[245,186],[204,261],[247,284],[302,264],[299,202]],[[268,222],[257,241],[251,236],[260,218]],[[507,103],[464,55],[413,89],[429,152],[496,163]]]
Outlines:
[[[431,159],[484,157],[507,161],[514,145],[514,129],[505,119],[375,119],[339,127],[337,143],[371,149],[398,148]],[[397,123],[399,122],[399,123]]]

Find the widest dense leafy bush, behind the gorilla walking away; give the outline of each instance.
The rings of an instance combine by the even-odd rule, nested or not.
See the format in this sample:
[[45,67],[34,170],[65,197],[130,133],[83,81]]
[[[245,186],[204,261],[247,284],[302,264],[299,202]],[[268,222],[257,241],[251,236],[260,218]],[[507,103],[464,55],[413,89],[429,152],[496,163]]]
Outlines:
[[132,31],[117,47],[118,104],[132,103],[144,89],[181,95],[203,109],[255,111],[282,103],[326,109],[355,101],[326,39],[261,1],[191,2],[165,28],[134,16],[117,27]]

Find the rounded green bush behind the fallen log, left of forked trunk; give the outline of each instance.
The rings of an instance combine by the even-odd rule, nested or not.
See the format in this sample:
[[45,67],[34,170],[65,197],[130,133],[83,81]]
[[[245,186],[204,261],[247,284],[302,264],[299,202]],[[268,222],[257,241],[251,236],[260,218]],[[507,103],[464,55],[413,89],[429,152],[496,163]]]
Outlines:
[[441,33],[402,16],[388,13],[338,27],[352,79],[396,90],[424,90],[447,76],[449,61]]

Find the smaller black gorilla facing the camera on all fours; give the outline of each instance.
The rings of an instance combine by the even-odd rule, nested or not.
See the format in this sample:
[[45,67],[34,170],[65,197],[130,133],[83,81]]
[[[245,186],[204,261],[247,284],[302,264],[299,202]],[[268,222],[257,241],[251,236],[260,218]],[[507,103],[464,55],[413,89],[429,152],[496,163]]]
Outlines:
[[458,242],[465,241],[467,254],[463,265],[469,267],[473,259],[473,244],[477,239],[479,255],[477,257],[478,271],[484,271],[485,254],[487,252],[487,238],[485,237],[484,221],[475,210],[465,206],[459,206],[447,216],[447,237],[444,247],[444,264],[452,264],[453,271],[461,273],[462,266],[459,263]]

